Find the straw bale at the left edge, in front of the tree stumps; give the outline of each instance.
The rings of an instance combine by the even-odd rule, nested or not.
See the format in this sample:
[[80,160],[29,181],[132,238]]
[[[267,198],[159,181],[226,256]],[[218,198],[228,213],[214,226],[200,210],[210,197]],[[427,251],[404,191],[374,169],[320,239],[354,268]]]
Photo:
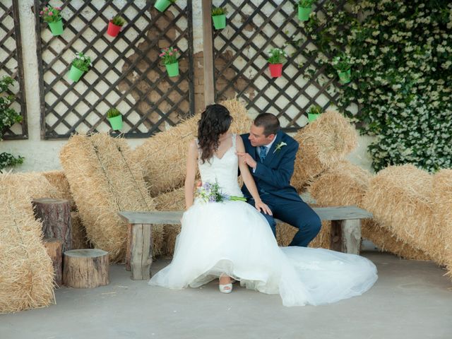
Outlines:
[[[0,313],[47,307],[54,302],[54,268],[31,204],[42,187],[24,180],[30,177],[0,175]],[[42,176],[35,179],[40,178],[47,182]]]

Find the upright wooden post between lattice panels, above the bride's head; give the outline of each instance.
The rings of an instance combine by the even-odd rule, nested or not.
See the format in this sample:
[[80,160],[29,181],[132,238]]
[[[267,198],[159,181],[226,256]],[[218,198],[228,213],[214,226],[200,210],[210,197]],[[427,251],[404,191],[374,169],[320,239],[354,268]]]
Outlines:
[[213,75],[212,0],[202,0],[203,11],[203,57],[204,57],[204,105],[215,102]]

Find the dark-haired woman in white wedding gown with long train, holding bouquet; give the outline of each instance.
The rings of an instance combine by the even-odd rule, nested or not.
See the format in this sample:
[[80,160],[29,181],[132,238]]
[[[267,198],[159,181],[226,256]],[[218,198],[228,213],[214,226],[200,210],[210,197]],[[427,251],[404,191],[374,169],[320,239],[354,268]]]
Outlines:
[[[199,287],[219,278],[220,292],[241,286],[279,294],[287,307],[319,305],[362,295],[374,285],[376,267],[367,258],[328,249],[278,247],[246,163],[242,138],[228,133],[232,117],[226,107],[209,105],[198,121],[186,165],[186,212],[172,262],[150,279],[171,289]],[[196,168],[203,186],[194,199]],[[246,203],[237,182],[240,169],[256,202]],[[218,190],[215,190],[218,189]]]

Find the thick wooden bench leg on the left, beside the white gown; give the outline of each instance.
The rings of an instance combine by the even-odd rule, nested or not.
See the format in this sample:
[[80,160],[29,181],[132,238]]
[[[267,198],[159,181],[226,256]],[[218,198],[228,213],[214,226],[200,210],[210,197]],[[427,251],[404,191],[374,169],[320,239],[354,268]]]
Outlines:
[[153,263],[152,227],[150,224],[129,225],[129,239],[126,254],[126,269],[131,270],[132,280],[145,280],[150,278],[150,265]]

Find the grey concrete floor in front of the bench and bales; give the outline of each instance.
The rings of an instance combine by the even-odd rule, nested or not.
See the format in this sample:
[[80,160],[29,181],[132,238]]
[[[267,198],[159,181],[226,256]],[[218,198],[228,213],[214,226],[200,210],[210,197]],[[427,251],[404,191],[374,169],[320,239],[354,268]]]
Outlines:
[[[278,295],[210,283],[182,291],[149,287],[110,266],[110,284],[61,288],[57,304],[0,315],[1,339],[452,338],[452,284],[430,262],[364,252],[379,270],[361,297],[321,307],[283,307]],[[160,260],[153,272],[167,265]]]

